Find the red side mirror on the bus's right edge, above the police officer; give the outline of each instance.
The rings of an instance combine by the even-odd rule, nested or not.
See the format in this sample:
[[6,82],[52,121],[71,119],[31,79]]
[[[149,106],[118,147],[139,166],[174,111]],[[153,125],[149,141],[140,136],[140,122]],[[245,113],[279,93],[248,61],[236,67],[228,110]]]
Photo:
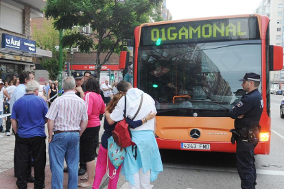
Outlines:
[[270,71],[283,69],[283,47],[270,45]]

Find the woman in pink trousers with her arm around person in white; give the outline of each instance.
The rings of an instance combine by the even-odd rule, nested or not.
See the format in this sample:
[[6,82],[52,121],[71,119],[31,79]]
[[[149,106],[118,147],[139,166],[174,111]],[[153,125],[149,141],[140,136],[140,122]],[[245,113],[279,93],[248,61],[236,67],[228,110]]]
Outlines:
[[[110,115],[111,112],[115,109],[115,106],[119,102],[119,99],[123,97],[123,93],[119,92],[116,95],[113,96],[113,99],[110,100],[110,103],[108,103],[108,106],[106,107],[106,117]],[[146,119],[150,120],[156,116],[156,112],[152,113],[150,112],[147,114]],[[104,119],[104,134],[102,135],[102,144],[99,147],[99,154],[97,155],[97,166],[95,168],[95,181],[93,183],[93,189],[99,188],[99,185],[101,184],[102,178],[106,174],[106,165],[107,165],[107,155],[108,155],[108,138],[112,136],[112,131],[115,129],[115,125],[117,123],[114,123],[113,125],[109,125],[108,121],[106,121],[106,117]],[[145,123],[144,119],[132,121],[130,118],[127,118],[127,122],[132,128],[139,127]],[[108,160],[108,168],[110,173],[113,173],[115,170],[115,166],[111,164],[110,160]],[[121,166],[117,169],[117,173],[115,175],[115,178],[109,179],[108,181],[108,189],[115,189],[117,188],[117,181],[119,179],[119,172],[120,172]]]

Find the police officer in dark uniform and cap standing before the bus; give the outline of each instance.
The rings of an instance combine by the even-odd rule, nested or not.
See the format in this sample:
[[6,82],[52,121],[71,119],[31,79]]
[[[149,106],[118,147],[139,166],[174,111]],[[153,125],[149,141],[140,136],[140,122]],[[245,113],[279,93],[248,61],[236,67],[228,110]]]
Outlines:
[[259,142],[259,120],[263,110],[263,100],[258,90],[261,78],[256,73],[246,73],[241,86],[248,92],[230,110],[230,118],[235,119],[235,130],[240,134],[237,141],[237,171],[241,178],[241,188],[255,188],[257,171],[255,168],[255,147]]

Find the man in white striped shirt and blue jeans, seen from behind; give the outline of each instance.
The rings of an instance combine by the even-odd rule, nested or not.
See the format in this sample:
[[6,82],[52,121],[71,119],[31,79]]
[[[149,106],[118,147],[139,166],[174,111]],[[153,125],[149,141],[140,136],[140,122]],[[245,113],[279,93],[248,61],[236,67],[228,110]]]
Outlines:
[[75,95],[75,79],[67,77],[62,84],[64,94],[54,100],[46,115],[51,188],[63,188],[64,157],[69,173],[68,188],[78,188],[79,143],[88,114],[84,100]]

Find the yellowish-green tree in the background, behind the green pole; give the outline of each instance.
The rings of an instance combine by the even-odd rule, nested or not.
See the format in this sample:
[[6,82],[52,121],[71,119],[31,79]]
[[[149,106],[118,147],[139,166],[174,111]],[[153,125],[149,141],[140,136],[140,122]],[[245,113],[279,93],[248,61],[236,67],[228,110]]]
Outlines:
[[[40,58],[40,64],[47,69],[49,79],[56,80],[59,74],[59,51],[56,49],[59,45],[59,31],[54,29],[53,22],[44,21],[43,29],[37,29],[35,25],[33,39],[36,40],[36,47],[52,52],[52,58]],[[64,50],[63,61],[66,57]]]

